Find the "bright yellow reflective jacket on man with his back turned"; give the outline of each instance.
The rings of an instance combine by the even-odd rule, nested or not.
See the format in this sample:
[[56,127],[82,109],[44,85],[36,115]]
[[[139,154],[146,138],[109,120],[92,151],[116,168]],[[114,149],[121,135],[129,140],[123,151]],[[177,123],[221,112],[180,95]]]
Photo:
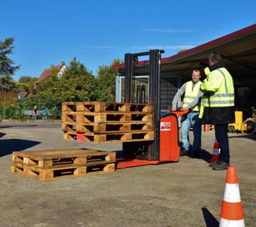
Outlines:
[[215,69],[210,72],[205,68],[207,79],[201,85],[205,93],[199,117],[202,118],[204,107],[232,107],[235,105],[233,79],[226,68]]

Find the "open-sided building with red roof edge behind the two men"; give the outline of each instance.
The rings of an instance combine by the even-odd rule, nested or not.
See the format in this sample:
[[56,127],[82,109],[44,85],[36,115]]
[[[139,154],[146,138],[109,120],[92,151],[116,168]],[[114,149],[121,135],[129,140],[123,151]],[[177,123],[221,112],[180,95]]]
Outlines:
[[[210,54],[218,53],[233,77],[235,106],[237,110],[249,111],[256,103],[256,24],[229,33],[216,40],[196,46],[171,57],[161,59],[161,110],[171,107],[177,90],[191,80],[193,69],[200,69],[204,79],[204,68],[208,67]],[[148,60],[135,64],[133,80],[135,85],[148,85]],[[116,101],[124,100],[124,64],[113,65],[118,75],[116,80]],[[139,84],[140,83],[140,84]],[[147,89],[146,89],[147,90]],[[147,91],[146,91],[147,94]],[[133,94],[135,96],[136,94]]]

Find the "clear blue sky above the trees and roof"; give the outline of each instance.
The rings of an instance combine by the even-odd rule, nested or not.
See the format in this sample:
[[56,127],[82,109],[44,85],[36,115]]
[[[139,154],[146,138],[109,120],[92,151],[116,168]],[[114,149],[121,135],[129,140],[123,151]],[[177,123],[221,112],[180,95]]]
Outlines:
[[256,23],[256,1],[13,0],[0,15],[0,40],[15,37],[18,80],[74,57],[94,75],[127,52],[169,57]]

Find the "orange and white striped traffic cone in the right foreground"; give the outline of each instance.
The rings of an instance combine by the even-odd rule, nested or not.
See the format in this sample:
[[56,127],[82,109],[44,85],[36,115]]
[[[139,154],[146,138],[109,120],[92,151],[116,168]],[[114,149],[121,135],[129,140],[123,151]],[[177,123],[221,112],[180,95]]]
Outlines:
[[219,227],[243,227],[244,214],[234,166],[227,168],[226,186],[221,206]]

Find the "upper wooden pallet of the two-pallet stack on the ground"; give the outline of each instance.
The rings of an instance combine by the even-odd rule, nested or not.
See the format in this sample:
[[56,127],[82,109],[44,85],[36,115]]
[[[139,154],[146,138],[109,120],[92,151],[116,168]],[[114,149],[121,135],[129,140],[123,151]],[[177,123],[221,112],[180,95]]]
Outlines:
[[96,150],[46,150],[13,152],[12,173],[22,172],[24,168],[48,169],[64,166],[93,166],[112,164],[116,161],[115,152]]

